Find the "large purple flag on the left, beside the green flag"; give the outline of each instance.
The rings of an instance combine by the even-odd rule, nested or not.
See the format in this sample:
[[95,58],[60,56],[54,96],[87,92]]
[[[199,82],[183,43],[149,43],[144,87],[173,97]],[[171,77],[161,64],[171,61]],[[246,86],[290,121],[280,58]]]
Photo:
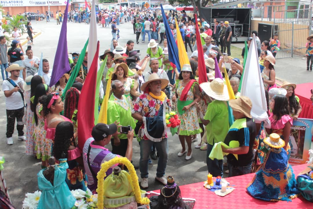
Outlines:
[[69,1],[67,0],[65,13],[64,13],[64,19],[62,22],[60,37],[59,37],[59,43],[57,50],[55,52],[54,57],[54,63],[52,68],[52,75],[50,80],[50,87],[56,84],[59,79],[64,75],[64,73],[67,73],[70,71],[69,67],[69,56],[67,54],[67,13],[69,9]]

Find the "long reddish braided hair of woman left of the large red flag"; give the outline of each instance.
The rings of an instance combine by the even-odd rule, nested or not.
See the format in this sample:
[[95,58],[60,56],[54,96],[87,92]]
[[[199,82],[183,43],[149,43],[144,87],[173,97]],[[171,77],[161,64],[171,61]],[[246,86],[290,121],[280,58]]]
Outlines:
[[75,109],[78,109],[80,91],[77,88],[70,88],[65,95],[64,116],[71,119]]

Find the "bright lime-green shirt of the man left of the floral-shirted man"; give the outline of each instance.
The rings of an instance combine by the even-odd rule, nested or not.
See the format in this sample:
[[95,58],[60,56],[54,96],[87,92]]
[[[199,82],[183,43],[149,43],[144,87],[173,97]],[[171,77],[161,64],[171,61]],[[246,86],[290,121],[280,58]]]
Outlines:
[[[131,126],[133,129],[136,124],[134,118],[131,117],[131,105],[127,102],[125,95],[123,99],[118,99],[112,94],[108,102],[107,123],[120,123],[121,126]],[[119,130],[118,130],[119,131]],[[117,135],[120,139],[127,138],[127,134],[121,133]],[[113,138],[113,137],[112,137]]]

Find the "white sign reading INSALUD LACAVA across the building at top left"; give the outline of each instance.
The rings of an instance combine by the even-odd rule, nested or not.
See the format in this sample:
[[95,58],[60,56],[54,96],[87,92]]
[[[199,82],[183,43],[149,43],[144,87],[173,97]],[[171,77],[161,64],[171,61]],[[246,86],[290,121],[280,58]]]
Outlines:
[[[2,7],[32,7],[32,6],[66,6],[65,0],[59,1],[41,1],[41,0],[2,0],[0,5]],[[69,2],[70,5],[70,2]]]

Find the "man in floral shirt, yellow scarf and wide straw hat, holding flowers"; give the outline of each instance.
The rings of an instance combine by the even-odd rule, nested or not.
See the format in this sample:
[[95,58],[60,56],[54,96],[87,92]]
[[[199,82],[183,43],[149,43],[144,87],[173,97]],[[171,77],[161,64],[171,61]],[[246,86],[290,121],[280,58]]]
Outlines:
[[142,123],[138,132],[140,137],[140,185],[148,188],[148,159],[152,145],[155,145],[159,154],[156,168],[156,180],[163,185],[167,184],[165,169],[167,165],[167,133],[165,112],[169,111],[171,104],[162,91],[168,85],[167,79],[161,79],[152,73],[148,80],[142,84],[144,93],[136,100],[131,116]]

